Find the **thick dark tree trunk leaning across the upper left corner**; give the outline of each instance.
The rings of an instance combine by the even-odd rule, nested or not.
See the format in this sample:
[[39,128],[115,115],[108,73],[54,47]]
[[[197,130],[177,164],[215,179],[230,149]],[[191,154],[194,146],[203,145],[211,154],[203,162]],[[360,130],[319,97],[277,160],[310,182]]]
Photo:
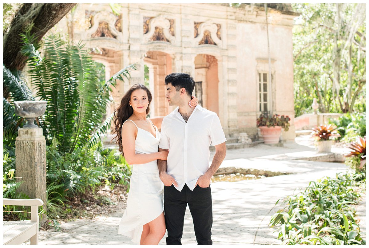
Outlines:
[[3,63],[8,69],[22,70],[26,57],[21,55],[20,33],[30,27],[37,41],[58,23],[75,3],[24,3],[15,14],[8,33],[4,36]]

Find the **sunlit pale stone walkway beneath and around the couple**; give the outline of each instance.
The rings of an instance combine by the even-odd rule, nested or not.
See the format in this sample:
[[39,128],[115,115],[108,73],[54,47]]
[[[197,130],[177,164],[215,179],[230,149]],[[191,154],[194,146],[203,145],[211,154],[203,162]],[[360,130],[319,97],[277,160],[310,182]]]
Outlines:
[[[296,140],[299,142],[299,140]],[[300,144],[303,143],[303,138]],[[344,149],[333,148],[344,153]],[[213,244],[280,244],[277,232],[268,227],[270,217],[283,202],[278,199],[297,193],[308,182],[323,176],[335,176],[346,170],[343,163],[296,160],[314,155],[311,144],[285,143],[284,147],[258,145],[258,147],[227,151],[221,167],[253,168],[280,171],[289,175],[273,176],[242,182],[217,182],[211,184],[213,197]],[[365,199],[364,199],[365,202]],[[39,244],[133,244],[129,238],[118,235],[118,224],[123,211],[98,220],[76,220],[61,225],[60,232],[40,231]],[[365,205],[359,205],[362,230],[365,230]],[[159,244],[165,244],[165,237]],[[192,217],[187,207],[182,244],[197,244]]]

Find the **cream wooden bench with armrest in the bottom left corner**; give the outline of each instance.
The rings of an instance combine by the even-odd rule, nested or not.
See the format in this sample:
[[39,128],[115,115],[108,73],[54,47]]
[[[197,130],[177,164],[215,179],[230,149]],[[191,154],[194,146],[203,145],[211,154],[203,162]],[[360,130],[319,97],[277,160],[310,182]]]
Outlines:
[[3,199],[4,205],[31,206],[31,220],[3,221],[3,244],[20,245],[31,239],[31,245],[38,244],[38,206],[41,199]]

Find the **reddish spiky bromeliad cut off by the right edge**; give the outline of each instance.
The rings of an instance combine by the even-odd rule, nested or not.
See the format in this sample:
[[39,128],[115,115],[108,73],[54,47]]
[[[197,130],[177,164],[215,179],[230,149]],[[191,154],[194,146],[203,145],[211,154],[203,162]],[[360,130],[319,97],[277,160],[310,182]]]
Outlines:
[[364,172],[366,167],[366,136],[358,137],[356,141],[349,144],[350,153],[345,154],[346,165],[356,172]]

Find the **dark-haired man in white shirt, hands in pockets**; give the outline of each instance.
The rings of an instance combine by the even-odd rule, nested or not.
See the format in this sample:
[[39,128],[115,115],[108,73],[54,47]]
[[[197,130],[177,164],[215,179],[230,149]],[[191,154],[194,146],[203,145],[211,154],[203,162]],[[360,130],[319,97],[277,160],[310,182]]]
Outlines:
[[[164,117],[159,144],[159,151],[169,151],[168,161],[158,160],[159,176],[165,185],[166,244],[181,244],[188,204],[197,244],[211,245],[210,183],[225,157],[225,135],[216,113],[188,105],[195,86],[189,74],[171,73],[165,77],[165,85],[169,106],[178,106]],[[209,167],[210,142],[215,155]]]

